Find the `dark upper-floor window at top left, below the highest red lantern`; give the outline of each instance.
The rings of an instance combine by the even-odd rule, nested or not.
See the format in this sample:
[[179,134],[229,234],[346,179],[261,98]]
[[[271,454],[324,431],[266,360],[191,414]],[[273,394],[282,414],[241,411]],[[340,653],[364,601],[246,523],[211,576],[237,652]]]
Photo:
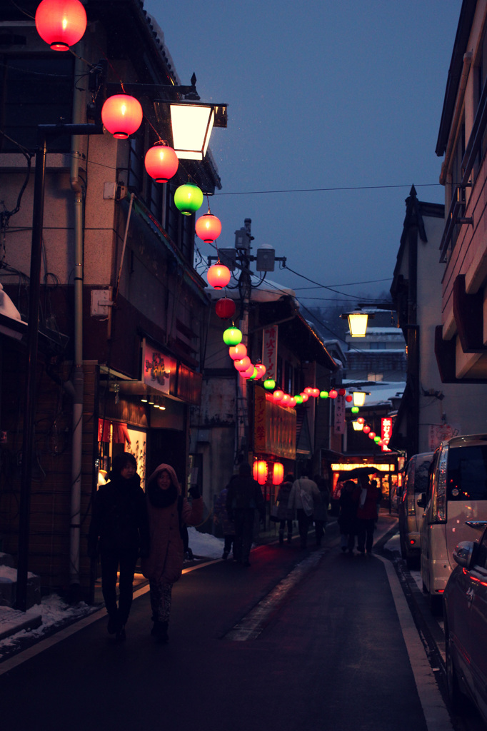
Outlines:
[[[72,56],[0,56],[0,152],[18,152],[18,143],[37,147],[37,125],[72,122]],[[15,142],[12,142],[15,140]],[[50,152],[69,152],[71,137],[49,141]]]

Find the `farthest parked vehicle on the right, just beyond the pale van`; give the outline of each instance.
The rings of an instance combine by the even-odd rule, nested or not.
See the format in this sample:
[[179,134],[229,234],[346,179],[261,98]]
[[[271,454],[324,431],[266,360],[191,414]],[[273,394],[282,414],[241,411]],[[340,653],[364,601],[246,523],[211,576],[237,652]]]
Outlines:
[[434,452],[421,452],[408,461],[398,504],[401,556],[408,569],[420,566],[420,523],[423,511],[416,501],[428,491],[428,473]]

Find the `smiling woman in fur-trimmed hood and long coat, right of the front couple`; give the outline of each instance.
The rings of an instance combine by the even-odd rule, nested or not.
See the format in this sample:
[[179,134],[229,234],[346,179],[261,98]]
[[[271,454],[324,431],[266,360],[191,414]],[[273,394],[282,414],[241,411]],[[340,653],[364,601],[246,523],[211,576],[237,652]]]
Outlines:
[[203,518],[203,498],[197,485],[189,488],[192,502],[181,495],[173,467],[159,464],[147,482],[151,550],[142,561],[142,573],[149,581],[156,642],[167,643],[173,584],[181,577],[184,542],[181,526],[195,526]]

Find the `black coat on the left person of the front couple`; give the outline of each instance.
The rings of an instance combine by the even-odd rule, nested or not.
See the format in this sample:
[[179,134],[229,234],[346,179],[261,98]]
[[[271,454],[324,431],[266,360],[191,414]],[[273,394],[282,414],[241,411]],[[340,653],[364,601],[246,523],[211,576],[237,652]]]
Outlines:
[[140,556],[149,550],[146,496],[140,487],[140,477],[130,480],[113,475],[110,482],[100,485],[94,498],[88,531],[88,556],[132,548]]

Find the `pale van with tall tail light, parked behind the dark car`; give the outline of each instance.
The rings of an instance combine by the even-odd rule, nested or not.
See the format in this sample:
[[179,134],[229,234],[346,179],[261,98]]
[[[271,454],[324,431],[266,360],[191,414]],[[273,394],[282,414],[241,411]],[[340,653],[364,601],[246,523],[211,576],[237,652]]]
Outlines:
[[453,550],[461,541],[478,542],[487,525],[487,434],[454,436],[440,444],[418,506],[424,508],[421,580],[437,613],[455,567]]

